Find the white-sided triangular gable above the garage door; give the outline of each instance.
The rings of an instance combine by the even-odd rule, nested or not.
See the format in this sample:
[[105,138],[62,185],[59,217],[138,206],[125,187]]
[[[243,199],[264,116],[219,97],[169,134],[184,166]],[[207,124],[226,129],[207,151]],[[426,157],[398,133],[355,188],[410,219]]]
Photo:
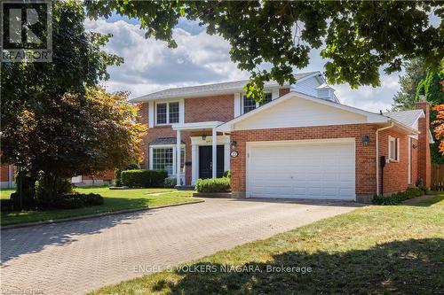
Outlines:
[[260,128],[292,128],[366,123],[367,118],[358,113],[321,105],[298,97],[257,113],[234,124],[234,130]]

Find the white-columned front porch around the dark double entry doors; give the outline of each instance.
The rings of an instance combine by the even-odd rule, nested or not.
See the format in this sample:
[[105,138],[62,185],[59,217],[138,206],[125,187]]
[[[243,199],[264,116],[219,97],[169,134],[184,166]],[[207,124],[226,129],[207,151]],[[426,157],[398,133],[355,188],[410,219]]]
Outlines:
[[[182,131],[190,132],[191,139],[191,185],[199,178],[221,177],[230,169],[230,136],[218,132],[216,128],[223,124],[221,121],[205,121],[196,123],[173,124],[176,131],[176,152],[180,152]],[[180,154],[176,155],[180,159]],[[180,162],[177,162],[180,171]],[[182,175],[177,174],[177,183]]]

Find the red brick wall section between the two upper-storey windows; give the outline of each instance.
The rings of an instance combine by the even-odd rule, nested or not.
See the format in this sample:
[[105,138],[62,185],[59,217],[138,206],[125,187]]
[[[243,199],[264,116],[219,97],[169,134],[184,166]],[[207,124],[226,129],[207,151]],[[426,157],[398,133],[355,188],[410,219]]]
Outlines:
[[185,122],[226,122],[234,118],[234,94],[185,99]]

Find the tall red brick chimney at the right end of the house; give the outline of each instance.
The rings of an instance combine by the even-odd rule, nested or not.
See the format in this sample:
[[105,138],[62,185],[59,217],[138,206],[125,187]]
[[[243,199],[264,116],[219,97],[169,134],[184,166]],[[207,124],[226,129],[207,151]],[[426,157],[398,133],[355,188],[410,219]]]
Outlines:
[[430,105],[424,100],[424,96],[420,96],[416,103],[416,109],[423,110],[425,118],[418,120],[418,180],[422,180],[425,187],[430,188],[432,178],[432,162],[430,156]]

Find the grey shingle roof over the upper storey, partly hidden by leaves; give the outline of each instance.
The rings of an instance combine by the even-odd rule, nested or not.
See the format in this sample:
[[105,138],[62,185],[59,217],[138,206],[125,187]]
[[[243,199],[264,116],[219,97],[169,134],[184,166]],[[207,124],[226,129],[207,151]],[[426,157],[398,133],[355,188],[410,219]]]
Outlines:
[[[316,74],[319,72],[307,72],[307,73],[298,73],[295,74],[295,79],[300,80],[312,74]],[[234,82],[222,82],[222,83],[214,83],[214,84],[203,84],[197,86],[189,86],[189,87],[178,87],[178,88],[170,88],[164,89],[161,91],[157,91],[154,93],[147,94],[142,97],[134,97],[130,99],[131,103],[139,103],[143,101],[149,101],[153,99],[167,99],[167,98],[176,98],[176,97],[199,97],[208,94],[224,94],[229,92],[242,91],[245,84],[247,84],[248,80],[234,81]],[[287,85],[289,85],[287,83]],[[279,84],[277,82],[266,82],[264,87],[274,88],[278,87]]]

